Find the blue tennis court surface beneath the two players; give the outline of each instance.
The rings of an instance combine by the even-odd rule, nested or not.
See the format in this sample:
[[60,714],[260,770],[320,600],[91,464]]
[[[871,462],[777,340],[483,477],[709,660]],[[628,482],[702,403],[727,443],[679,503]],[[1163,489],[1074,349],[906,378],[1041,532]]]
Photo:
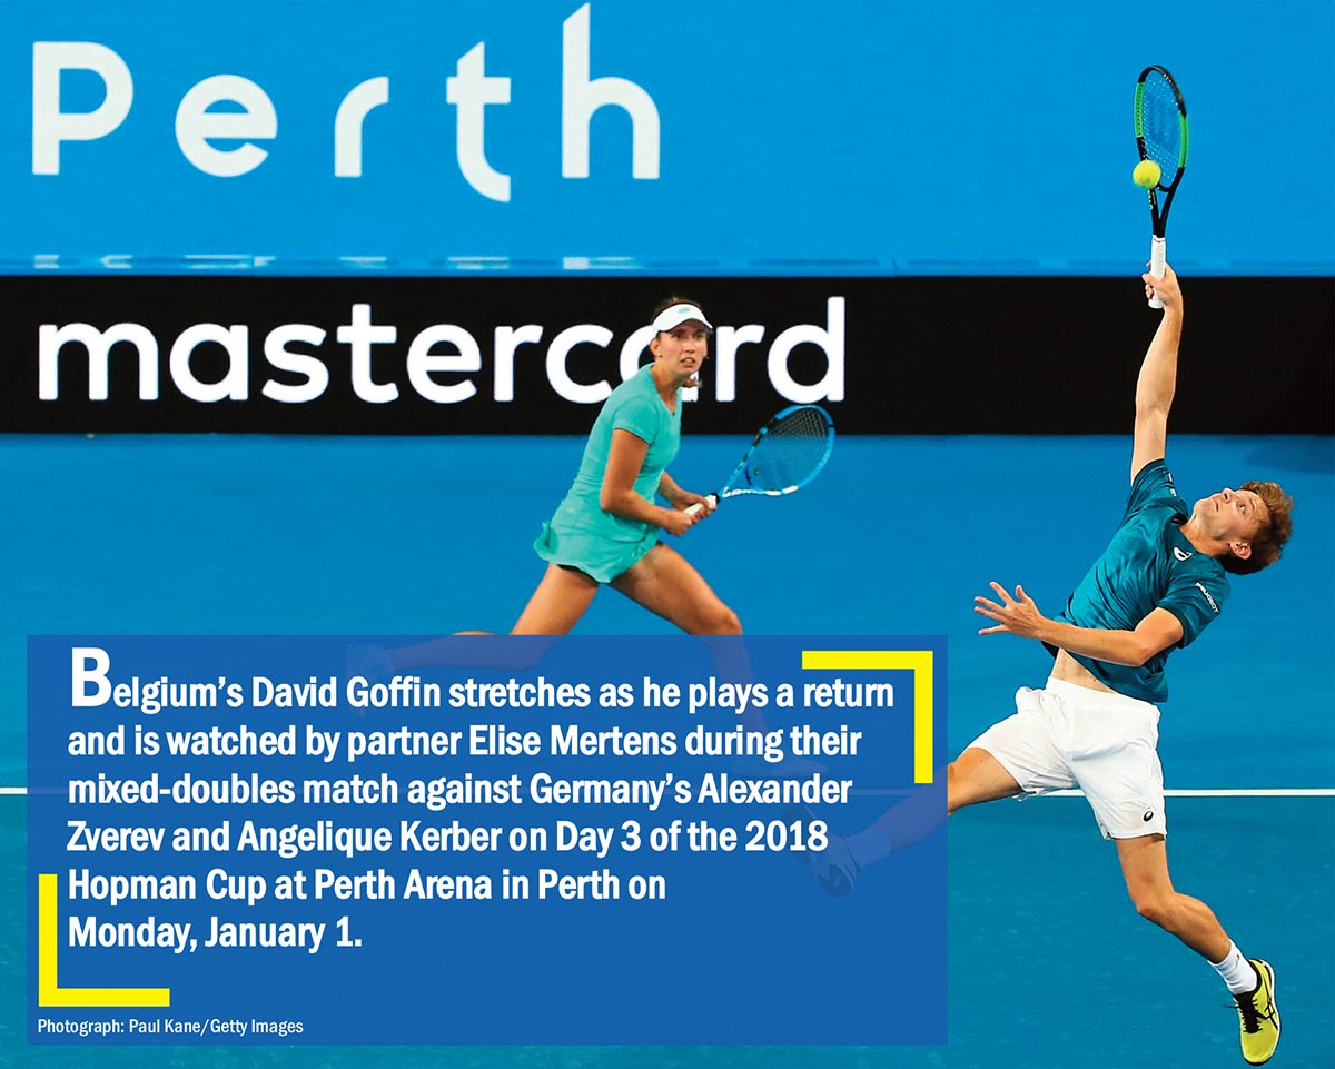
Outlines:
[[[741,444],[688,435],[673,474],[710,490]],[[581,448],[569,438],[0,438],[11,577],[0,785],[25,782],[28,634],[506,630],[541,575],[530,543]],[[1168,460],[1188,498],[1263,478],[1298,507],[1284,561],[1238,578],[1220,621],[1173,658],[1160,725],[1167,785],[1328,790],[1335,443],[1183,438]],[[1121,514],[1128,462],[1128,438],[845,438],[801,494],[729,502],[677,545],[749,631],[947,635],[956,751],[1049,663],[1037,643],[980,638],[973,595],[991,579],[1024,583],[1045,613],[1060,609]],[[579,630],[669,629],[602,591]],[[24,806],[0,797],[0,1066],[1243,1064],[1223,985],[1135,916],[1079,798],[999,802],[952,822],[945,1048],[27,1048]],[[1284,1038],[1272,1064],[1335,1065],[1335,798],[1172,798],[1169,829],[1179,889],[1276,966]],[[864,877],[894,873],[889,858]],[[829,948],[829,968],[857,953]],[[745,962],[728,965],[745,982]],[[912,977],[893,961],[884,974],[885,1013],[913,1013]]]

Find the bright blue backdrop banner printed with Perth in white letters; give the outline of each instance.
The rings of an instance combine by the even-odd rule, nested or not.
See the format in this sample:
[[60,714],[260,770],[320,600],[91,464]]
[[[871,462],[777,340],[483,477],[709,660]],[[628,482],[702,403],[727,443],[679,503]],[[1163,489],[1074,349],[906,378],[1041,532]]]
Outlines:
[[1124,274],[1151,63],[1179,266],[1335,270],[1326,0],[11,0],[0,268]]

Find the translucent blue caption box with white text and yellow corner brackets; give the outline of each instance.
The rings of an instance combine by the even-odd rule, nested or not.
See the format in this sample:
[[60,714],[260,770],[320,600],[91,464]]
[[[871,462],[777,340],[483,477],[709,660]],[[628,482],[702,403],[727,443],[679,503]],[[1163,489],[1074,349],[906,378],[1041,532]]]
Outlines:
[[29,639],[29,1042],[945,1041],[943,639],[347,650]]

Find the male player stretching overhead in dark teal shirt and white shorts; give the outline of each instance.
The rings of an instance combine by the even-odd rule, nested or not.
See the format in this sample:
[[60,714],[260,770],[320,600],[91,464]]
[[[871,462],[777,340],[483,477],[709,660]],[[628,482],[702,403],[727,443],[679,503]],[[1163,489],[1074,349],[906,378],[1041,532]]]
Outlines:
[[[1243,957],[1210,906],[1179,893],[1168,877],[1155,703],[1168,693],[1168,655],[1223,610],[1226,574],[1259,571],[1279,559],[1292,530],[1292,499],[1278,484],[1258,482],[1226,487],[1192,508],[1177,496],[1164,444],[1181,290],[1172,268],[1161,279],[1143,278],[1147,296],[1157,294],[1164,312],[1136,383],[1125,515],[1056,618],[1044,617],[1020,586],[1012,595],[992,583],[995,599],[975,599],[975,611],[995,621],[980,634],[1036,638],[1056,661],[1045,687],[1021,687],[1016,714],[984,731],[949,766],[947,810],[1079,786],[1104,838],[1117,846],[1136,910],[1214,965],[1238,1004],[1243,1057],[1260,1065],[1279,1042],[1275,970]],[[906,838],[913,819],[892,813],[808,858],[821,886],[846,894],[862,866],[929,830],[920,825]]]

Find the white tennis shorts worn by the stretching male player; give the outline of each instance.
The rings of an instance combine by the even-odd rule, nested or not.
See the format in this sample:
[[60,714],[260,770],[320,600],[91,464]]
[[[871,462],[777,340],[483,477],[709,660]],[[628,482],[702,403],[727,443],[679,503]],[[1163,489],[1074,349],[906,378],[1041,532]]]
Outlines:
[[1015,707],[971,746],[1001,762],[1027,795],[1080,787],[1105,839],[1168,834],[1157,706],[1048,679],[1043,690],[1020,687]]

